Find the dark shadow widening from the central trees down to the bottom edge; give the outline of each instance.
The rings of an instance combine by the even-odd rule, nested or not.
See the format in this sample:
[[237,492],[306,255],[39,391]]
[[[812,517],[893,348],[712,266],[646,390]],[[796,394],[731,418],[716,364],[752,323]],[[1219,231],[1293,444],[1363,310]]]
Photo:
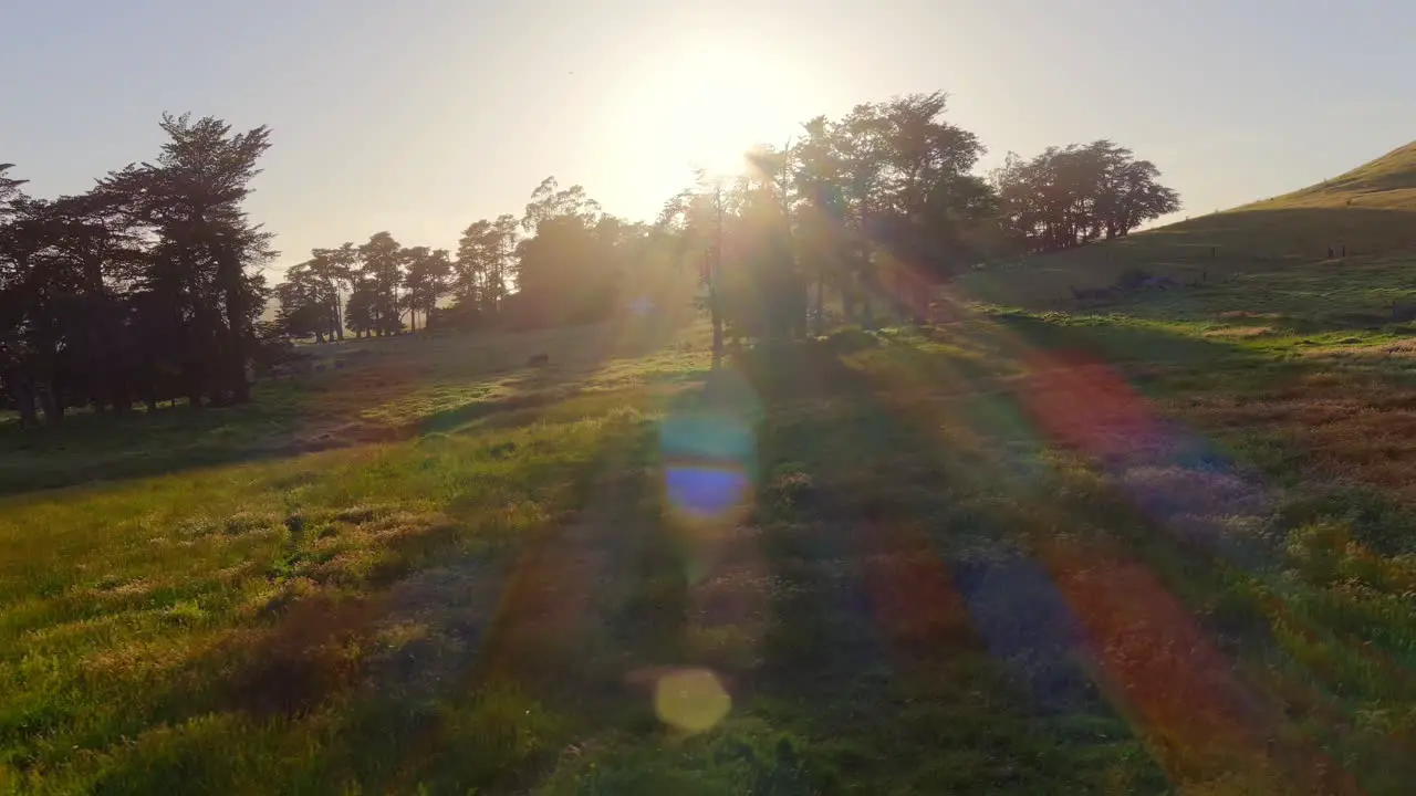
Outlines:
[[[980,460],[828,350],[743,367],[769,397],[756,520],[780,581],[759,688],[817,739],[816,763],[860,792],[1161,789],[1073,654],[1065,601],[988,503],[1003,496],[973,494]],[[803,384],[854,398],[772,399]]]

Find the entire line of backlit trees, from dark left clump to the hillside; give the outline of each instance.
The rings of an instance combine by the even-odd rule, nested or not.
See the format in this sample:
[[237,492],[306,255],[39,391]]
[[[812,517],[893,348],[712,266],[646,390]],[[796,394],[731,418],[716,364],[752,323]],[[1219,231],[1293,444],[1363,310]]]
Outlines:
[[944,109],[936,92],[818,116],[741,174],[700,174],[647,224],[547,178],[520,217],[469,225],[456,251],[378,232],[314,249],[273,290],[270,235],[242,210],[268,130],[164,116],[152,163],[81,195],[28,197],[0,166],[0,388],[25,423],[78,405],[219,405],[249,399],[276,337],[583,323],[692,299],[719,346],[800,337],[821,330],[827,295],[862,324],[920,317],[930,286],[971,263],[1126,235],[1178,208],[1154,164],[1106,140],[978,176],[983,143]]

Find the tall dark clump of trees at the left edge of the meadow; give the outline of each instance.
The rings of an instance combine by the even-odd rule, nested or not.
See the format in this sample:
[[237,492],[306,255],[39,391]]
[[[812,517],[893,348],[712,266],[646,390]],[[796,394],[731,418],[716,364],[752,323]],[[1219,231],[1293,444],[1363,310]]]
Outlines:
[[268,130],[164,116],[157,157],[28,197],[0,164],[0,387],[21,422],[251,398],[270,234],[242,203]]

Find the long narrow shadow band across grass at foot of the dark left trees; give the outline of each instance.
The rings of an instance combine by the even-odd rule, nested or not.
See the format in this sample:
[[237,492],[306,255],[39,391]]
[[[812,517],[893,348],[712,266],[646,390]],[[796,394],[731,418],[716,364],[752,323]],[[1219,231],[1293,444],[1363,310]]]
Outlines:
[[[453,336],[350,341],[320,353],[320,373],[258,381],[249,405],[200,411],[173,406],[126,416],[79,411],[58,426],[35,429],[0,422],[0,450],[6,452],[0,456],[0,494],[120,483],[445,432],[562,401],[595,368],[663,348],[674,329],[622,322],[486,340]],[[551,367],[527,367],[528,353],[548,354]],[[368,409],[396,405],[430,382],[456,384],[467,399],[426,416],[367,416]],[[489,394],[486,399],[477,398],[479,387]]]

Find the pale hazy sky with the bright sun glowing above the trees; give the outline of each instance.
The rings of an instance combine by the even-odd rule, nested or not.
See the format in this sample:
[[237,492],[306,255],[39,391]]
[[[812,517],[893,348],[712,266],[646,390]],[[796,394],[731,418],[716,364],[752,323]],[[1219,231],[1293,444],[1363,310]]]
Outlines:
[[817,115],[946,91],[1011,150],[1112,139],[1205,214],[1416,139],[1392,0],[0,0],[0,161],[37,195],[149,160],[163,112],[268,125],[275,271],[387,229],[455,248],[547,176],[649,220]]

